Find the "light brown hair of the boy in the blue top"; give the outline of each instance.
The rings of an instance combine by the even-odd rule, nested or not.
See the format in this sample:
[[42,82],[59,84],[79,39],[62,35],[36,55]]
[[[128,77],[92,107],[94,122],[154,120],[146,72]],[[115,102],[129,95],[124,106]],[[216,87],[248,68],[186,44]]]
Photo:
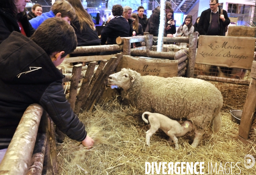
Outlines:
[[51,11],[56,15],[61,13],[61,17],[69,17],[71,20],[76,18],[75,9],[67,0],[56,0],[51,7]]

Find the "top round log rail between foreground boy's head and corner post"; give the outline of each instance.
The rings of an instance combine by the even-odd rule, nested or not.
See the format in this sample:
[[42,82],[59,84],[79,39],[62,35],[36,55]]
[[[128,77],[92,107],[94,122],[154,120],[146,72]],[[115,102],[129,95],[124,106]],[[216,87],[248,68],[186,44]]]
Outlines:
[[119,51],[122,50],[122,45],[103,45],[103,46],[80,46],[76,47],[76,50],[71,54],[80,54],[80,53],[91,53],[91,52],[104,52],[104,51]]

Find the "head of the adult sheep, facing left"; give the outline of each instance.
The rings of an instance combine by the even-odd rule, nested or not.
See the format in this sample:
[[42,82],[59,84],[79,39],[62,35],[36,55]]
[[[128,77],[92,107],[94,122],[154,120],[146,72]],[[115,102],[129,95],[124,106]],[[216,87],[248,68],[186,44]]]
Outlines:
[[121,69],[120,72],[117,72],[115,74],[109,75],[108,77],[108,83],[112,85],[117,85],[127,91],[131,88],[132,84],[135,80],[138,79],[141,75],[137,73],[136,71],[133,71],[131,69]]

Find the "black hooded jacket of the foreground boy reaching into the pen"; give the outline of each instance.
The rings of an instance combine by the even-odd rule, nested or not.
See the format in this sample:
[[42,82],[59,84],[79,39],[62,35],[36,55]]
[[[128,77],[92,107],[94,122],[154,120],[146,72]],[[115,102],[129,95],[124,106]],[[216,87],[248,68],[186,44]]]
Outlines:
[[[23,73],[30,67],[40,69]],[[84,140],[84,124],[74,114],[62,88],[64,76],[41,47],[12,32],[0,44],[0,70],[4,72],[0,74],[0,138],[12,138],[26,108],[39,103],[68,137]]]

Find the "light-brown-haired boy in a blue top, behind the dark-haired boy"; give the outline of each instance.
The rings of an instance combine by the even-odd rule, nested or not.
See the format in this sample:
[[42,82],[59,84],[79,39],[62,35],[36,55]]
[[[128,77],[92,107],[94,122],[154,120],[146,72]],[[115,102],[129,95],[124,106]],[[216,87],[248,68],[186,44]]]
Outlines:
[[29,22],[34,29],[37,29],[38,26],[44,22],[44,20],[51,17],[59,17],[62,20],[70,23],[71,20],[75,19],[76,12],[70,3],[67,2],[67,0],[56,0],[49,12],[43,13],[41,16],[31,19]]

